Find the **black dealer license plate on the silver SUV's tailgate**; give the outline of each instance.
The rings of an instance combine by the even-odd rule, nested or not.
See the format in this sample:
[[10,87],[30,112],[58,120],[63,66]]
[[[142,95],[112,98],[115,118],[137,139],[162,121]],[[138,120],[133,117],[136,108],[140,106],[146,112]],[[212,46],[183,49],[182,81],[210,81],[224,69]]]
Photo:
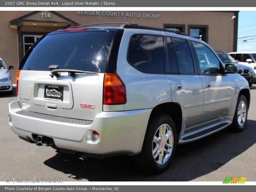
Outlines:
[[44,85],[44,99],[63,101],[63,87],[55,85]]

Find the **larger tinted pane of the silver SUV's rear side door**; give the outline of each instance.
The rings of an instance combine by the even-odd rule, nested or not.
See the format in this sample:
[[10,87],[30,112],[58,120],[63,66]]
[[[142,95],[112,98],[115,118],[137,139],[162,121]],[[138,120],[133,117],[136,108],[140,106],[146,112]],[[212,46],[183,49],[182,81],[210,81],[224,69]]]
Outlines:
[[172,38],[172,40],[175,47],[180,72],[195,73],[187,40],[178,38]]

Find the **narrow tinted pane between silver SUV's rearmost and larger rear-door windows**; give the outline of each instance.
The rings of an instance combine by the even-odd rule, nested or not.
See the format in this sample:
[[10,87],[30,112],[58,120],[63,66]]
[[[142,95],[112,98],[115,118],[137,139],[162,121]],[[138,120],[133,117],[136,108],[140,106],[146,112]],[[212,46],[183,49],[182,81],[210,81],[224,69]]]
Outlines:
[[171,73],[178,73],[177,60],[175,56],[175,51],[172,44],[172,39],[167,37],[167,46],[168,46],[168,60],[169,62],[166,65],[165,71]]

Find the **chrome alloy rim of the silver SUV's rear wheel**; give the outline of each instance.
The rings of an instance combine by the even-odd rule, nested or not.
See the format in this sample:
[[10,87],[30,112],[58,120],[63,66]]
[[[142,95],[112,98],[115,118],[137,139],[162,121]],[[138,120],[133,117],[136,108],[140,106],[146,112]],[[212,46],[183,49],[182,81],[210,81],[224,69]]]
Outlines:
[[152,155],[159,165],[165,164],[172,154],[173,132],[168,124],[161,124],[156,130],[153,143]]

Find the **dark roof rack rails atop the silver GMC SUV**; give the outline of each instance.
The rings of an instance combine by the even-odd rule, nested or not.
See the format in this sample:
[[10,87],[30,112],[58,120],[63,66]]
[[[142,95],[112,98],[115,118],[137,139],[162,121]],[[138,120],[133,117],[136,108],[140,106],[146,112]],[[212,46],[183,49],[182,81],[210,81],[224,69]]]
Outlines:
[[166,31],[166,32],[176,33],[176,34],[179,34],[179,35],[188,36],[187,34],[185,34],[183,32],[180,32],[179,30],[169,30],[169,29],[157,28],[157,27],[140,26],[137,23],[133,23],[133,22],[92,23],[92,24],[79,25],[79,26],[69,27],[69,28],[80,28],[80,27],[88,27],[88,26],[94,26],[94,25],[107,25],[107,24],[121,24],[120,28],[147,29],[147,30],[154,30],[154,31]]

